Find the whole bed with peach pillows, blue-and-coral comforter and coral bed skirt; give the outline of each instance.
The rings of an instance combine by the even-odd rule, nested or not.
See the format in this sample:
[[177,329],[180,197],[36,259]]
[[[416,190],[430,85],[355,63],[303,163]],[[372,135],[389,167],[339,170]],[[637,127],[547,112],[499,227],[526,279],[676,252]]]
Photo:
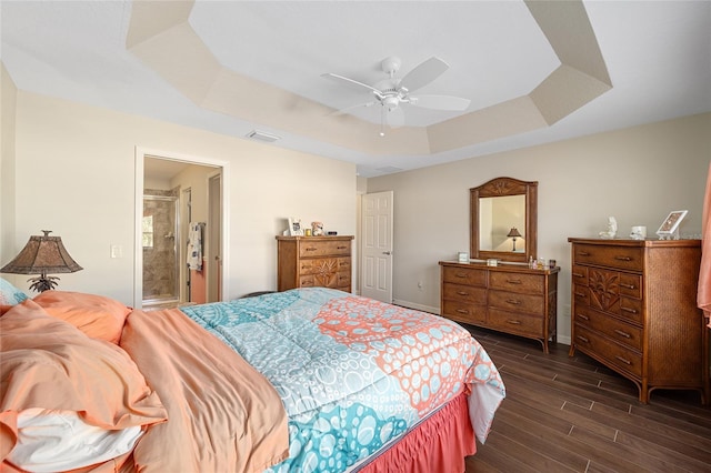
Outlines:
[[2,471],[463,472],[505,395],[461,326],[330,289],[2,312]]

